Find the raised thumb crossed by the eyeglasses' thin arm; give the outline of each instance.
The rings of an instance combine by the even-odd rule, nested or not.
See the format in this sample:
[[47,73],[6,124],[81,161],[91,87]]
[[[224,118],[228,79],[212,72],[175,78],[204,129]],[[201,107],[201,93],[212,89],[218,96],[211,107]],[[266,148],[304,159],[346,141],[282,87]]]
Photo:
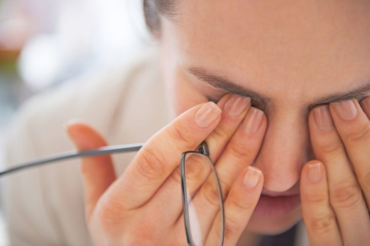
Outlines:
[[[70,121],[65,127],[79,151],[107,145],[104,138],[85,123]],[[86,218],[89,219],[96,202],[116,179],[116,174],[110,156],[82,158],[81,173],[85,186]]]

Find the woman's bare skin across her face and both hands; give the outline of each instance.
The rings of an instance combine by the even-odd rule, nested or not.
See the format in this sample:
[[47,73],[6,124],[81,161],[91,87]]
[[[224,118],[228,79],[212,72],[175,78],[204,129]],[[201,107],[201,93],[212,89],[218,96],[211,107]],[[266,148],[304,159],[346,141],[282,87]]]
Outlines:
[[[109,157],[83,160],[86,217],[96,245],[185,245],[178,157],[204,139],[225,198],[225,245],[250,242],[252,233],[280,233],[302,217],[311,245],[369,241],[370,98],[313,104],[369,81],[370,3],[182,1],[178,10],[176,20],[162,18],[160,37],[168,103],[178,117],[145,143],[120,177]],[[270,100],[226,94],[189,67]],[[206,103],[209,97],[217,106]],[[213,116],[197,113],[207,106]],[[258,115],[260,121],[252,121]],[[80,150],[106,145],[84,123],[67,124],[67,132]],[[255,186],[245,185],[253,177]],[[301,193],[302,206],[284,216],[253,214],[261,192],[286,191]],[[206,245],[218,238],[211,194],[203,185],[194,198],[207,206]]]

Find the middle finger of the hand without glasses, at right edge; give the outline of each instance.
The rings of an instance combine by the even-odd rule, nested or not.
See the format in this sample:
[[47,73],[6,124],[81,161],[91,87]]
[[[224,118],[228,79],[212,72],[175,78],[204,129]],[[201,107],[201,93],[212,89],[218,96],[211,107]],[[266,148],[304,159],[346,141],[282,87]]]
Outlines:
[[370,206],[370,121],[357,100],[332,104],[330,111]]

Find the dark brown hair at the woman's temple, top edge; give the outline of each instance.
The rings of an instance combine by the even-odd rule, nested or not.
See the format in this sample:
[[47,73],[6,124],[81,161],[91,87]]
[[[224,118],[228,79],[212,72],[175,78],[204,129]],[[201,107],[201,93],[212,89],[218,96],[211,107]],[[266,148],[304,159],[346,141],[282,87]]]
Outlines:
[[143,0],[142,3],[146,26],[154,36],[158,37],[161,31],[160,16],[174,18],[175,0]]

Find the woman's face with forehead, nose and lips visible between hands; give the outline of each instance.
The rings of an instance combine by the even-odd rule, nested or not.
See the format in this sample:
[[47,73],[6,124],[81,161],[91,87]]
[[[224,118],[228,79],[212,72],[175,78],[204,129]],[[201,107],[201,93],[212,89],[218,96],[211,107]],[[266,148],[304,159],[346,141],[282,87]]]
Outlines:
[[[162,19],[161,37],[176,115],[227,93],[233,86],[217,88],[227,84],[219,77],[255,93],[252,105],[268,118],[253,164],[264,173],[263,193],[299,193],[302,166],[315,158],[310,109],[370,83],[370,2],[180,1],[178,12],[176,20]],[[300,207],[284,216],[253,214],[247,228],[278,233],[299,219]]]

